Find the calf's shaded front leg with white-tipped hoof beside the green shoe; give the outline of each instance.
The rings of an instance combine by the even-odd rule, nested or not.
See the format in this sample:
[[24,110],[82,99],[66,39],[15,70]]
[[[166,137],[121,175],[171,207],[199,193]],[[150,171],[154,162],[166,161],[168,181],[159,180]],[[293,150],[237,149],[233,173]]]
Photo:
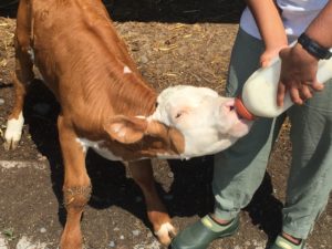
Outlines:
[[169,245],[176,229],[173,227],[167,210],[157,194],[151,160],[131,162],[128,166],[134,180],[143,191],[147,217],[153,225],[155,235],[160,243]]

